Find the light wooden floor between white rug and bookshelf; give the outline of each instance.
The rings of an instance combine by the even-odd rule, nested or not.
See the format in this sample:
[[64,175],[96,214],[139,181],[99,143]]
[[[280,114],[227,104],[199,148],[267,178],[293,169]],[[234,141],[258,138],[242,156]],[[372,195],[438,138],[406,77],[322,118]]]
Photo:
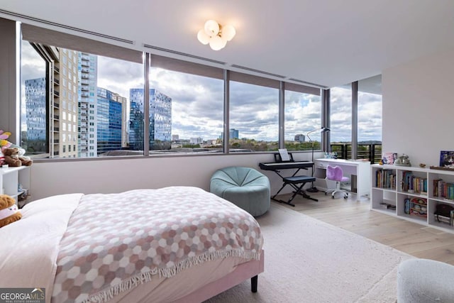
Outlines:
[[[454,265],[454,233],[371,211],[367,197],[356,201],[354,194],[350,194],[348,199],[332,199],[323,192],[309,194],[319,202],[297,195],[293,200],[294,207],[282,205],[418,258]],[[288,194],[279,196],[286,201],[288,197]],[[272,203],[278,202],[272,200]]]

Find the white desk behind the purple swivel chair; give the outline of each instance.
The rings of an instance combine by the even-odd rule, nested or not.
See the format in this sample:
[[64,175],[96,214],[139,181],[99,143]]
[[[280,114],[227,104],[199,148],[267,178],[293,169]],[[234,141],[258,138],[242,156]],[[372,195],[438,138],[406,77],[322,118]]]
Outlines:
[[[343,175],[350,178],[350,182],[356,179],[356,195],[358,200],[361,196],[370,195],[370,162],[360,160],[343,160],[343,159],[316,159],[314,160],[314,177],[316,182],[314,185],[325,191],[327,189],[335,189],[336,181],[326,179],[326,166],[340,166],[343,170]],[[351,189],[355,193],[355,189]]]

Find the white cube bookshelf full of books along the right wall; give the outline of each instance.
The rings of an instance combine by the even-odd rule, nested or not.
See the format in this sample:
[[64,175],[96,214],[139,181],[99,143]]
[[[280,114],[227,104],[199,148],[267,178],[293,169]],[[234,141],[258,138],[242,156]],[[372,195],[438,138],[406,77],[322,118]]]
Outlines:
[[[440,194],[436,190],[436,181],[443,180],[443,182],[454,183],[454,171],[378,164],[371,165],[371,167],[370,207],[372,210],[454,233],[454,226],[446,222],[438,222],[434,214],[437,204],[454,206],[454,199],[436,195]],[[408,176],[413,177],[414,189],[408,189],[406,186],[408,182],[405,182],[405,179]],[[394,187],[392,186],[393,182]],[[426,202],[427,216],[406,214],[405,200],[412,198]]]

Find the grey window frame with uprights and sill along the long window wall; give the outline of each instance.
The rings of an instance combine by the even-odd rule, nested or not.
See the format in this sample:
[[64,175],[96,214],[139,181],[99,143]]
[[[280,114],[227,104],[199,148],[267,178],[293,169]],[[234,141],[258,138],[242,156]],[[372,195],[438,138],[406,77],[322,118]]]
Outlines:
[[[55,45],[56,47],[67,48],[70,50],[77,50],[84,53],[90,53],[93,55],[102,55],[106,57],[114,57],[121,60],[127,60],[131,62],[140,62],[143,64],[144,67],[144,90],[148,92],[148,85],[149,85],[149,71],[150,67],[161,67],[168,70],[175,70],[179,72],[187,72],[193,75],[203,75],[206,77],[213,77],[216,79],[223,79],[224,82],[224,143],[223,143],[223,153],[222,154],[231,154],[228,148],[228,134],[230,129],[230,121],[229,121],[229,87],[230,81],[238,81],[238,82],[245,82],[250,84],[259,84],[265,87],[272,87],[277,88],[279,90],[279,131],[278,131],[278,145],[279,148],[284,145],[284,91],[285,90],[292,90],[295,92],[304,92],[307,94],[315,94],[321,95],[321,88],[319,87],[309,87],[302,84],[297,84],[294,82],[286,82],[282,79],[272,79],[270,77],[262,77],[258,75],[248,74],[239,72],[236,67],[232,67],[232,69],[228,69],[226,66],[223,67],[214,67],[211,65],[204,65],[202,63],[197,62],[189,62],[182,59],[177,59],[175,57],[167,57],[165,55],[156,55],[153,53],[148,53],[147,51],[139,51],[133,50],[132,48],[124,48],[122,46],[105,43],[99,40],[92,40],[90,38],[84,38],[78,35],[72,35],[70,33],[63,33],[60,31],[50,30],[48,28],[42,28],[40,26],[33,26],[28,23],[21,23],[22,35],[23,40],[33,41],[36,43],[44,43],[46,45]],[[145,94],[147,96],[148,94]],[[148,96],[147,96],[148,98]],[[145,100],[144,100],[145,101]],[[329,100],[328,100],[329,101]],[[17,100],[18,103],[21,102],[21,99]],[[326,100],[322,99],[321,102],[321,121],[322,126],[329,122],[326,122],[324,118],[325,111],[323,108],[326,108],[325,104]],[[145,104],[148,104],[148,101],[145,101]],[[147,109],[146,111],[148,111]],[[147,112],[144,113],[148,115]],[[328,125],[326,125],[328,126]],[[149,127],[149,123],[145,123],[145,133],[146,127]],[[326,143],[323,143],[322,138],[322,146],[325,146]],[[144,138],[144,150],[143,155],[135,155],[135,156],[122,156],[122,157],[88,157],[88,158],[70,158],[71,160],[101,160],[101,159],[125,159],[125,158],[138,158],[138,157],[169,157],[170,155],[149,155],[148,153],[148,138],[145,136]],[[307,153],[307,150],[295,151],[301,153]],[[249,154],[248,152],[247,154]],[[275,152],[252,152],[252,153],[275,153]],[[243,154],[243,153],[236,153],[236,154]],[[184,156],[197,156],[197,155],[207,155],[207,154],[182,154]],[[217,153],[216,155],[221,155],[221,153]],[[175,156],[175,155],[172,155]],[[62,158],[45,158],[45,159],[36,159],[38,161],[52,161],[52,160],[62,160]],[[67,160],[69,158],[65,158]]]

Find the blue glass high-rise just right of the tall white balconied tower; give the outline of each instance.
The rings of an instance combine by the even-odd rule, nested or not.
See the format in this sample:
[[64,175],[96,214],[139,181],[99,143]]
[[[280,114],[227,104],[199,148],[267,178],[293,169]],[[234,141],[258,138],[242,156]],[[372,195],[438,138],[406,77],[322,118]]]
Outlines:
[[126,98],[98,87],[96,103],[96,134],[98,155],[120,150],[122,141],[123,104]]

